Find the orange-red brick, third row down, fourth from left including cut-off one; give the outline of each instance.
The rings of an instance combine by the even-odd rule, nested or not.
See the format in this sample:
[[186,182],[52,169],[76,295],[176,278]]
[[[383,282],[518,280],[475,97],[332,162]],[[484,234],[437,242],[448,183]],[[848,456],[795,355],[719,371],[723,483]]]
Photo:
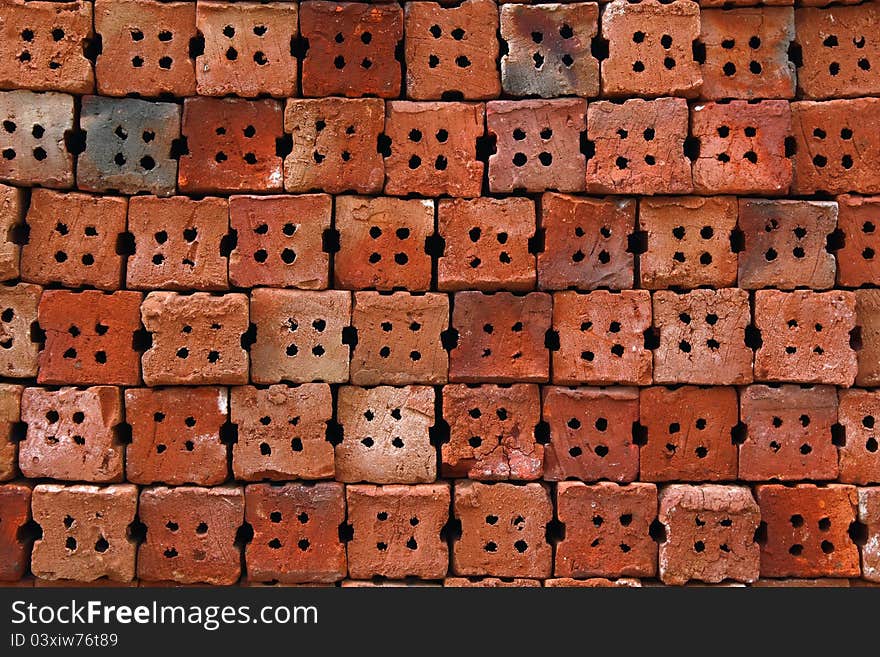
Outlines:
[[230,197],[229,224],[237,240],[229,255],[229,282],[326,288],[330,256],[322,239],[332,203],[324,194]]

